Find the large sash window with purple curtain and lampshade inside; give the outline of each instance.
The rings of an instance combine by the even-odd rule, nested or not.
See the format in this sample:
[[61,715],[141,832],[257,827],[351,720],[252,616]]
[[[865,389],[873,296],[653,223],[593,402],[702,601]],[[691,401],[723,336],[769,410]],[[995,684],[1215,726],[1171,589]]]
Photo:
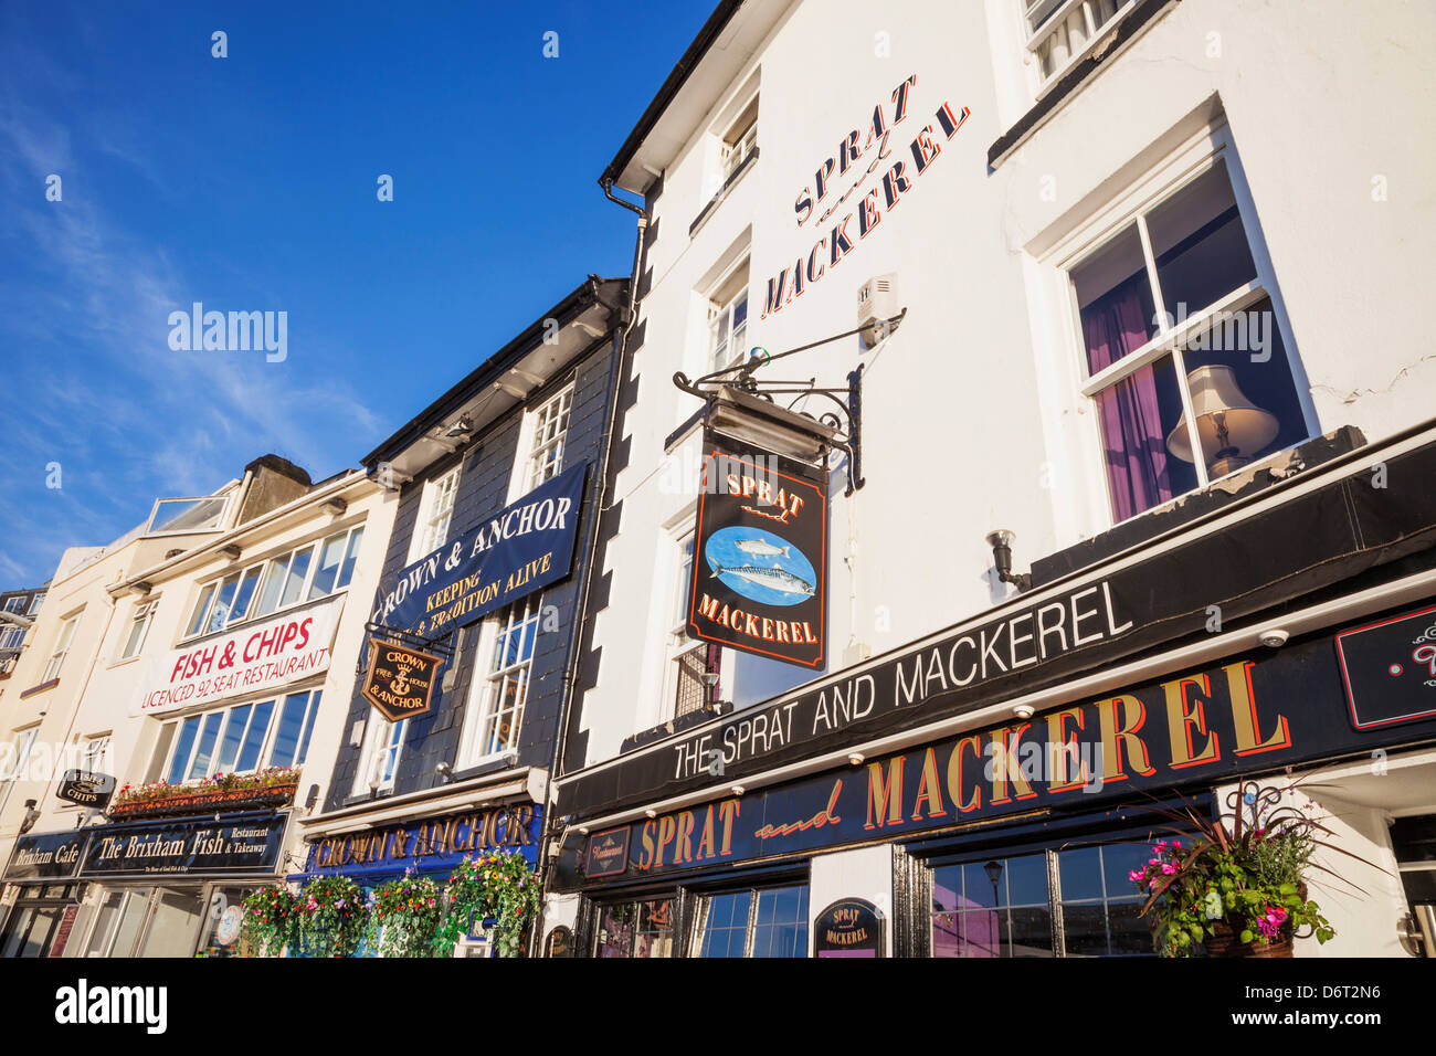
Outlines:
[[1068,270],[1117,522],[1307,440],[1223,155]]

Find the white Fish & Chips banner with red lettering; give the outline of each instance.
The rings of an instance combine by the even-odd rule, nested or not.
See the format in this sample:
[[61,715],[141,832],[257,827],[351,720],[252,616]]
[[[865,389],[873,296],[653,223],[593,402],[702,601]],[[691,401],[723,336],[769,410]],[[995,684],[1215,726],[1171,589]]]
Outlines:
[[343,598],[330,598],[172,649],[149,661],[129,711],[157,715],[322,674],[329,670],[329,647],[342,608]]

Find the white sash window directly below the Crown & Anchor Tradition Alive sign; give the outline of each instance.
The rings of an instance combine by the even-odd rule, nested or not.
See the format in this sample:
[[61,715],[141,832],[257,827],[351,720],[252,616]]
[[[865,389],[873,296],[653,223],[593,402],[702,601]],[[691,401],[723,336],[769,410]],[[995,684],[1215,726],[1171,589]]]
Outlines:
[[514,602],[484,624],[480,657],[487,658],[470,690],[462,759],[472,764],[518,747],[518,730],[538,638],[540,595]]

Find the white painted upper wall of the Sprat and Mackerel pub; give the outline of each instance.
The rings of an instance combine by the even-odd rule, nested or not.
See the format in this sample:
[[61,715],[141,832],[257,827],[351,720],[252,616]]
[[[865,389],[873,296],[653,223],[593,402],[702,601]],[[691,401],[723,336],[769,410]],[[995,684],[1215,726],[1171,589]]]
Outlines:
[[[748,4],[737,17],[780,7]],[[1022,569],[1111,526],[1060,264],[1090,244],[1093,221],[1114,200],[1165,161],[1209,154],[1213,139],[1228,144],[1244,220],[1259,228],[1254,256],[1275,276],[1310,432],[1356,425],[1377,440],[1429,418],[1436,362],[1407,305],[1422,302],[1436,234],[1425,175],[1436,158],[1417,132],[1436,114],[1425,91],[1433,62],[1409,42],[1430,39],[1436,13],[1420,3],[1379,7],[1183,0],[994,171],[988,147],[1032,103],[1017,0],[794,3],[735,76],[702,82],[701,69],[707,114],[682,131],[662,126],[686,141],[652,203],[638,402],[622,424],[630,458],[610,499],[623,503],[605,562],[613,590],[595,621],[603,661],[583,700],[587,761],[615,756],[625,737],[671,714],[672,613],[652,602],[676,590],[675,540],[692,523],[699,466],[696,434],[663,453],[663,438],[698,409],[671,376],[705,372],[705,292],[744,251],[748,345],[777,353],[850,329],[856,290],[877,274],[896,273],[908,307],[875,352],[846,338],[758,375],[841,385],[866,368],[867,486],[844,499],[841,468],[833,476],[829,670],[1005,596],[989,575],[991,529],[1017,532]],[[737,46],[731,32],[724,37]],[[794,198],[875,105],[890,116],[893,89],[910,75],[893,154],[910,172],[908,144],[932,124],[941,155],[863,240],[854,218],[850,256],[760,319],[768,279],[823,233],[816,214],[797,226]],[[715,131],[754,83],[760,158],[689,238],[715,187]],[[943,103],[971,109],[951,141],[933,119]],[[1213,111],[1225,131],[1213,128]],[[836,180],[837,193],[849,182]],[[722,695],[745,707],[806,677],[729,652]]]

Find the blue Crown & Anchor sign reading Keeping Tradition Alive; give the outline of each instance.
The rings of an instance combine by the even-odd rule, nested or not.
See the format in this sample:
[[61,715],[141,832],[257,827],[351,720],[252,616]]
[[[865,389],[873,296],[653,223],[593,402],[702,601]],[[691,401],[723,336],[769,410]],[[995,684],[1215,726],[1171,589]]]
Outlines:
[[546,480],[402,569],[393,586],[381,590],[373,622],[419,638],[442,638],[567,576],[587,468],[580,463]]

